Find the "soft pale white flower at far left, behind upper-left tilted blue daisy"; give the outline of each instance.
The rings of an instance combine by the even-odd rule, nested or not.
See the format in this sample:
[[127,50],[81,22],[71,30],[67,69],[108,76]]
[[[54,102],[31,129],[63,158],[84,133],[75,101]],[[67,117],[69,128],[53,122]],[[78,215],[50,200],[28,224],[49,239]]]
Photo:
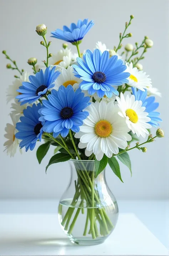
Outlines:
[[13,85],[8,86],[7,95],[6,95],[7,103],[9,103],[9,101],[15,99],[15,97],[20,94],[16,90],[19,89],[19,87],[22,85],[22,82],[29,82],[29,75],[30,74],[28,72],[25,72],[19,78],[15,79],[15,81],[13,82]]

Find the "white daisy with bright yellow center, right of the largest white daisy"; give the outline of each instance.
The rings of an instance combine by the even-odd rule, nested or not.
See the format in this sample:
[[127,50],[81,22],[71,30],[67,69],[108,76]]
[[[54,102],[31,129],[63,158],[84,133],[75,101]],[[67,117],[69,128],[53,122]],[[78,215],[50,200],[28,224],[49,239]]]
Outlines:
[[148,130],[152,126],[148,123],[150,118],[147,117],[148,113],[144,112],[145,107],[142,106],[141,100],[135,100],[134,95],[127,95],[126,100],[124,99],[123,93],[120,94],[120,98],[116,96],[120,111],[118,114],[126,119],[128,128],[145,138],[146,134],[149,134]]

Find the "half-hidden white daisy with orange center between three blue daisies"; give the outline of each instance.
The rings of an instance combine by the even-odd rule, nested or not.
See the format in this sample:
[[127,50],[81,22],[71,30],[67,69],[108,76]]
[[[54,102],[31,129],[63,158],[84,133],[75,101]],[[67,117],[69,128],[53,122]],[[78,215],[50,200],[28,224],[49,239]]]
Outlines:
[[67,87],[68,85],[80,84],[81,79],[77,78],[73,74],[73,67],[68,66],[68,68],[62,68],[60,70],[61,74],[58,79],[55,81],[55,87],[53,89],[57,90],[61,85]]

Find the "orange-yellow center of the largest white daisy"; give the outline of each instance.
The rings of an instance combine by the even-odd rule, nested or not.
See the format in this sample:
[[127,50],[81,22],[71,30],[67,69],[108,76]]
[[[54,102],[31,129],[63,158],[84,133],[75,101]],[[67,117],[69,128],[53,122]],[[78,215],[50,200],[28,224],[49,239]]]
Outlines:
[[106,120],[101,120],[95,125],[95,132],[99,137],[106,138],[112,132],[112,125]]

